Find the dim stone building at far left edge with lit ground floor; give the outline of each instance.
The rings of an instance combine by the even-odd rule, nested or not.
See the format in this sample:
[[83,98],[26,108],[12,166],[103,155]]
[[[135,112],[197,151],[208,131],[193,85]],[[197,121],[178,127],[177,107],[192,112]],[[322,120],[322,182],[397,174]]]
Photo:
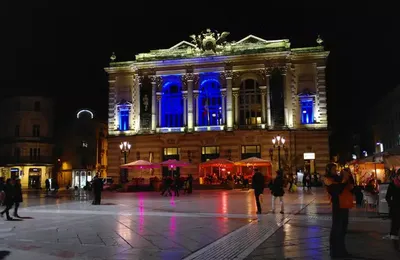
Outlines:
[[0,102],[0,168],[24,188],[44,187],[53,167],[53,101],[15,96]]

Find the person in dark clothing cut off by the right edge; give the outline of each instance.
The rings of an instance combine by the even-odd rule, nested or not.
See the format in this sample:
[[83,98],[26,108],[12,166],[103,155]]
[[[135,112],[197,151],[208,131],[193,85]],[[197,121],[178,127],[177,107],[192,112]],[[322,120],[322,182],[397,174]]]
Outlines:
[[400,169],[397,176],[389,184],[386,192],[386,201],[389,205],[389,216],[392,220],[390,225],[390,239],[396,250],[399,248],[399,231],[400,231]]

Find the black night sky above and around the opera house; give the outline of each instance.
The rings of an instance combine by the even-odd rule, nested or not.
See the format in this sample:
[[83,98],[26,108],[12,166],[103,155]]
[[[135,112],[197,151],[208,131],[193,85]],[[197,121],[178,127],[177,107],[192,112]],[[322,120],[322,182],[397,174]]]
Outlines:
[[288,38],[292,47],[314,46],[320,34],[331,51],[327,84],[333,153],[349,150],[354,133],[363,137],[370,130],[369,110],[399,83],[400,18],[394,6],[324,6],[323,1],[286,6],[243,1],[255,3],[248,7],[232,1],[127,1],[132,5],[125,6],[117,6],[117,1],[90,6],[79,3],[84,1],[55,6],[46,1],[9,2],[14,6],[0,4],[0,86],[8,92],[23,89],[55,96],[59,126],[61,118],[73,117],[82,107],[106,120],[103,68],[112,51],[119,61],[132,60],[138,52],[169,48],[206,28],[231,32],[231,41],[248,34]]

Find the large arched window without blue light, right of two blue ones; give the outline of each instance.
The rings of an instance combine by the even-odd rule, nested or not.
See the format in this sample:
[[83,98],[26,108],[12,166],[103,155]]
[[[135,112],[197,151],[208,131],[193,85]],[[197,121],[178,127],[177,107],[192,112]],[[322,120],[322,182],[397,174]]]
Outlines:
[[261,91],[253,79],[242,81],[239,90],[239,124],[261,124]]

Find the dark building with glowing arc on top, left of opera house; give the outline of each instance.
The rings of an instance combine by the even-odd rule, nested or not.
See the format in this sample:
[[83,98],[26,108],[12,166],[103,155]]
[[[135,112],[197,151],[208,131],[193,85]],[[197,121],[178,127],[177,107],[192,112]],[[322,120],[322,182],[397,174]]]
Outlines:
[[57,180],[60,187],[83,188],[95,174],[107,175],[107,124],[80,109],[60,131]]

